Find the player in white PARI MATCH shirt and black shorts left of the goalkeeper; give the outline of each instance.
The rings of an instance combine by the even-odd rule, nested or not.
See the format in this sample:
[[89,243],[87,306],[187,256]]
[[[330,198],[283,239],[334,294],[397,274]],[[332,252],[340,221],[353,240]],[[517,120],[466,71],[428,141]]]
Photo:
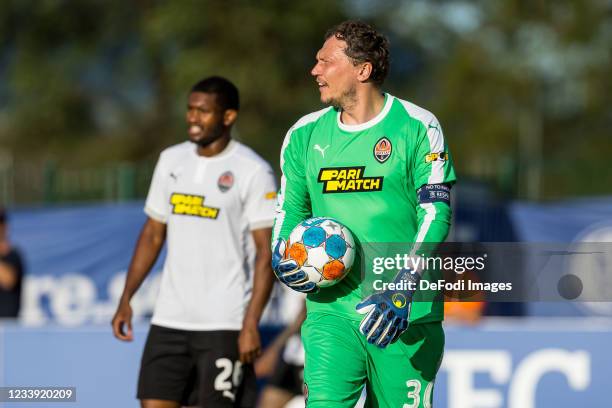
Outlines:
[[164,150],[155,168],[148,219],[112,321],[117,338],[132,340],[130,299],[167,239],[138,381],[143,407],[255,404],[251,363],[260,353],[258,323],[274,280],[276,187],[268,163],[230,137],[238,108],[238,90],[228,80],[195,84],[189,142]]

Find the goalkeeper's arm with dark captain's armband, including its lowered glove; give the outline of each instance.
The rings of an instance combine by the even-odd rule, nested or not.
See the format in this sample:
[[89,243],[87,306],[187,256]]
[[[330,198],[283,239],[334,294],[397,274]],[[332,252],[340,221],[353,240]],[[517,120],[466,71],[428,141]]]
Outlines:
[[[410,154],[412,153],[412,154]],[[411,256],[431,255],[437,244],[448,235],[451,222],[450,189],[455,182],[448,147],[437,119],[419,129],[417,145],[412,157],[412,184],[415,186],[418,228],[413,239]],[[425,245],[424,245],[425,244]],[[375,293],[357,305],[364,313],[360,331],[368,342],[386,347],[408,328],[412,298],[423,271],[401,270],[394,283],[402,283],[407,290],[386,290]]]

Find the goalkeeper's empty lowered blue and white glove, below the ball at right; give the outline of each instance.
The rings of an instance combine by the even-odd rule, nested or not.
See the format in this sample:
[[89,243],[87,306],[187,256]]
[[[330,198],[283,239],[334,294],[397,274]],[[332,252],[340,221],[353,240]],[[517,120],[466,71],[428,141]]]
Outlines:
[[376,292],[357,305],[357,312],[366,314],[359,331],[366,336],[368,343],[384,348],[408,328],[412,297],[419,280],[417,272],[403,269],[393,282],[405,282],[407,289]]

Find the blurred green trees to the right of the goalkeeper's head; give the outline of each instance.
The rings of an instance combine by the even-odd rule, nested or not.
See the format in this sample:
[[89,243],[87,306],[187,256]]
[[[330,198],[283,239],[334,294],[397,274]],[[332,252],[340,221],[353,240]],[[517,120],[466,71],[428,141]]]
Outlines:
[[389,86],[436,112],[462,175],[529,199],[610,194],[609,1],[353,3],[424,67]]

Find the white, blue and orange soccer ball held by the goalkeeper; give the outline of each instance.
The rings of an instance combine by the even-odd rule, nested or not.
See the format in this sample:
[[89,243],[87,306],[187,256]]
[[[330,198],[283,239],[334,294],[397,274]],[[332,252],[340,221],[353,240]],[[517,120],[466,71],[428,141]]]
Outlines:
[[309,218],[298,224],[287,241],[285,259],[297,262],[318,287],[335,285],[355,260],[351,231],[333,218]]

